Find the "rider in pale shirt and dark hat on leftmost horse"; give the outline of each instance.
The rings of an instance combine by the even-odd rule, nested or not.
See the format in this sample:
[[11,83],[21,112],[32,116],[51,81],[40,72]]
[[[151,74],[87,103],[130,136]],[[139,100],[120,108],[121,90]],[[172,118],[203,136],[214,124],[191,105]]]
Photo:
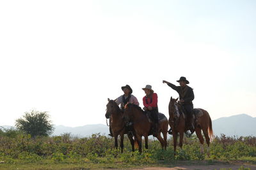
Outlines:
[[[115,99],[115,102],[118,106],[120,105],[120,108],[122,111],[124,111],[124,106],[128,102],[132,104],[136,104],[138,106],[140,105],[140,103],[138,102],[138,99],[132,95],[132,89],[129,85],[125,85],[121,87],[121,89],[123,90],[124,94],[118,97],[117,99]],[[108,135],[113,137],[112,127],[111,127],[111,118],[109,118],[109,132],[110,134]]]

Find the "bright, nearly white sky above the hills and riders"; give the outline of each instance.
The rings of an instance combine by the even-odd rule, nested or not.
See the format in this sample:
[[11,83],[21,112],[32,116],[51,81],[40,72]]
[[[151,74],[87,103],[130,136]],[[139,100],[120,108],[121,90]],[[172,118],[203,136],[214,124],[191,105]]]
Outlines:
[[256,117],[256,1],[0,1],[1,125],[106,124],[108,98],[152,85],[168,118],[185,76],[215,120]]

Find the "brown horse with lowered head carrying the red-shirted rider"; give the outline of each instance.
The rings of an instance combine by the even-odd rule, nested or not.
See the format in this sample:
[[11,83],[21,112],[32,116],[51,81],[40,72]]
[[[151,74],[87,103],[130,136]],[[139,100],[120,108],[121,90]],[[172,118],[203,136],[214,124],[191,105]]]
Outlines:
[[[133,129],[135,132],[136,140],[139,145],[139,152],[142,152],[142,136],[145,139],[145,148],[148,149],[148,136],[151,134],[150,129],[152,122],[148,120],[148,116],[145,111],[141,110],[140,106],[128,103],[125,105],[124,109],[125,120],[133,122]],[[163,133],[164,139],[161,137],[161,132]],[[168,132],[168,120],[163,113],[159,113],[159,126],[157,139],[161,143],[162,149],[166,150],[167,146],[167,132]]]

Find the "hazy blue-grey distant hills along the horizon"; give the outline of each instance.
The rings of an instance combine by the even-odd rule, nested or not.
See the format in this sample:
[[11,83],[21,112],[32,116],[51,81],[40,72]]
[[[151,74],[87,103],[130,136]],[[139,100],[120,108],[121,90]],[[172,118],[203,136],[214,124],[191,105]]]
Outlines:
[[[1,127],[1,125],[0,125]],[[11,126],[3,125],[9,129]],[[63,125],[54,126],[53,136],[64,133],[71,133],[72,136],[88,137],[95,133],[102,135],[109,134],[109,127],[104,124],[84,125],[79,127],[67,127]],[[212,121],[212,129],[215,136],[225,134],[226,136],[256,136],[256,118],[246,114],[235,115],[232,117],[222,117]]]

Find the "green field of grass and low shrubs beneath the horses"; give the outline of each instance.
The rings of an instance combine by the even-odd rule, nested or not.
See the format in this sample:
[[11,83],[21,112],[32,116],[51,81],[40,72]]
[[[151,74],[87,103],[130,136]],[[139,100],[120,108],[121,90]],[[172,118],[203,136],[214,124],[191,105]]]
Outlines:
[[[131,152],[125,137],[124,153],[114,149],[114,140],[100,134],[72,138],[70,134],[31,138],[28,134],[0,133],[0,169],[127,169],[134,167],[175,167],[179,165],[256,165],[256,137],[226,137],[211,143],[211,156],[200,153],[198,139],[184,139],[183,150],[173,154],[172,139],[161,150],[158,141],[150,140],[149,149]],[[206,146],[205,146],[206,150]],[[256,167],[256,166],[255,166]]]

